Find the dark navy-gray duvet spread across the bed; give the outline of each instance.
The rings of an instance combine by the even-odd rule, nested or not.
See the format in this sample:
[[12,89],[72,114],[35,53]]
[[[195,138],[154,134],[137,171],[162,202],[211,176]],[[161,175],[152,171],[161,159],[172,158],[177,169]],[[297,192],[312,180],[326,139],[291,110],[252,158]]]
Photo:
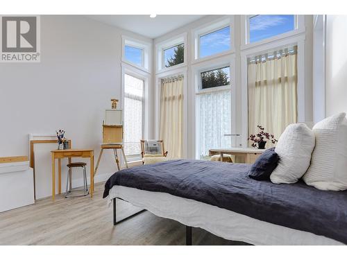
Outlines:
[[347,191],[252,180],[250,167],[183,159],[137,166],[112,175],[103,198],[114,185],[164,192],[347,244]]

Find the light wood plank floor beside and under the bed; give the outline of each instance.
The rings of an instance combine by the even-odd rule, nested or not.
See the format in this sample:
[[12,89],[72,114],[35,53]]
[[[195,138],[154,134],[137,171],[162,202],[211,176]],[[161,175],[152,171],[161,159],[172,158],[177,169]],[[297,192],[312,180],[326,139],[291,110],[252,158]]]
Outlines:
[[[116,227],[112,207],[102,199],[103,184],[94,198],[50,198],[35,205],[0,213],[0,245],[184,245],[185,226],[144,211]],[[117,200],[119,218],[136,210]],[[193,245],[243,245],[203,229],[193,228]]]

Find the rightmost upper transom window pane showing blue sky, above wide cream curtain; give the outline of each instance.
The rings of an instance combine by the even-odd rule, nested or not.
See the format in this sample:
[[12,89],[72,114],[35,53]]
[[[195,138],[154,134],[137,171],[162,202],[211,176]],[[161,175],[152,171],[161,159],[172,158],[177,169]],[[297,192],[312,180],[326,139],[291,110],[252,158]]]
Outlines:
[[293,31],[296,28],[294,15],[254,15],[248,17],[248,42],[261,40]]

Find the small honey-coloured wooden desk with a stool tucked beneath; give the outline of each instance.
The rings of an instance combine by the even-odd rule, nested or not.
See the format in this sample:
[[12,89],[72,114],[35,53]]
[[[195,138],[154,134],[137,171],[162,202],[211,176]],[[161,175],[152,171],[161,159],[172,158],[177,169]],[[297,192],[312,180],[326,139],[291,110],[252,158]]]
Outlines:
[[90,158],[90,197],[93,197],[94,192],[94,150],[90,149],[66,149],[52,150],[52,200],[56,196],[56,159],[58,159],[58,193],[61,193],[61,159],[69,158],[71,163],[72,157],[89,157]]

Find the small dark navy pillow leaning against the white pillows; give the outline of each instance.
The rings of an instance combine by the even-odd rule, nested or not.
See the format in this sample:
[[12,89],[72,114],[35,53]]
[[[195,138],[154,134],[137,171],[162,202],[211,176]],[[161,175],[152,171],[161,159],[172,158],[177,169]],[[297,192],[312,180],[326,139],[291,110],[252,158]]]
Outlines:
[[278,155],[275,153],[275,148],[269,148],[257,157],[249,171],[248,177],[254,180],[269,180],[272,171],[278,163]]

